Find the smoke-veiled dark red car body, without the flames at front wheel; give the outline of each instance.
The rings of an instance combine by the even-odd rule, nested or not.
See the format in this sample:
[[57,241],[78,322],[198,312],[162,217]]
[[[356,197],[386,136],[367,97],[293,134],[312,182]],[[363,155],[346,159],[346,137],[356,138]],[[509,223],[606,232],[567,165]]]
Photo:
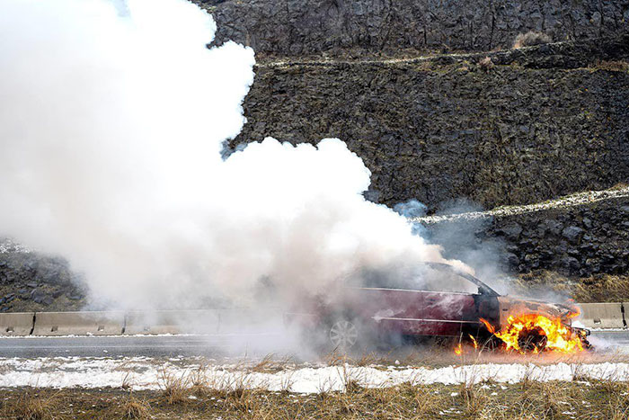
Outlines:
[[360,273],[328,295],[333,298],[302,303],[287,316],[298,318],[311,340],[343,350],[409,336],[489,338],[481,318],[500,331],[514,311],[547,314],[571,327],[575,310],[502,297],[474,276],[436,263]]

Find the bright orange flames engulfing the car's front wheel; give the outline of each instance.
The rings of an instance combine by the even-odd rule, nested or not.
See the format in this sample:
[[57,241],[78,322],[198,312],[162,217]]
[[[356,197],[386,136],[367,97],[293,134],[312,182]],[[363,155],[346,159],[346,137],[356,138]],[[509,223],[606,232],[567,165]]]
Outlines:
[[510,316],[507,326],[499,332],[487,320],[481,318],[481,322],[490,333],[502,340],[506,350],[513,349],[518,353],[583,351],[579,335],[573,334],[570,327],[564,326],[560,318],[551,319],[538,314]]

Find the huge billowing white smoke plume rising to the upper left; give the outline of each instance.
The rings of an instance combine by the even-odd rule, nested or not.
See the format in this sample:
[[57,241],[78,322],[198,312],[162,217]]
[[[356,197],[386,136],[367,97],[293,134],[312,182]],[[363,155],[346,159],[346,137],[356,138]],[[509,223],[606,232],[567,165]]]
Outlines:
[[321,292],[364,267],[442,261],[341,140],[275,139],[225,161],[252,49],[207,49],[183,0],[0,3],[0,233],[64,255],[94,301],[251,301],[266,279]]

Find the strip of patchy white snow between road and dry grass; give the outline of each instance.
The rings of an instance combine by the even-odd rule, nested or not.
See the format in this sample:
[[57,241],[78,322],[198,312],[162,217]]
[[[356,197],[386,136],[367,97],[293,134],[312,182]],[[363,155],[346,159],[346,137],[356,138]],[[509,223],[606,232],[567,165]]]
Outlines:
[[[290,390],[317,393],[343,390],[350,380],[369,388],[390,387],[403,382],[415,384],[478,383],[483,380],[515,383],[528,380],[572,380],[573,371],[593,380],[629,380],[629,363],[602,362],[576,365],[556,363],[537,366],[523,363],[484,363],[445,368],[384,368],[320,366],[267,373],[238,369],[233,365],[210,365],[205,370],[209,387],[216,389]],[[134,389],[159,389],[164,371],[182,378],[199,370],[199,363],[174,365],[163,360],[133,357],[0,359],[0,387],[119,388],[123,383]]]

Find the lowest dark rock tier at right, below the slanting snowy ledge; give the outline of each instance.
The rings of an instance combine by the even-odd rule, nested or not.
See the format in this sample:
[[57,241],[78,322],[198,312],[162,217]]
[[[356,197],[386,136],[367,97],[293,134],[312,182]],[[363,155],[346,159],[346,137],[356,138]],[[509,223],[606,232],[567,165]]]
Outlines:
[[543,269],[589,277],[629,272],[626,194],[523,214],[444,220],[427,224],[426,232],[430,241],[446,246],[451,258],[472,265],[486,261],[511,273]]

